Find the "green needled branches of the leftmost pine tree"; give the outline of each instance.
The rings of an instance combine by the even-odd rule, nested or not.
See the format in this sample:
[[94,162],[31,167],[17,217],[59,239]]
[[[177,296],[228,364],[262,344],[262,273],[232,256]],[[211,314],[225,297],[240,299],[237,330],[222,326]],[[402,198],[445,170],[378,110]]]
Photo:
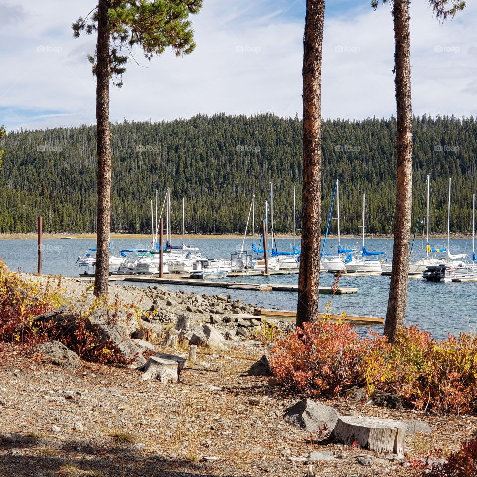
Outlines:
[[[202,0],[109,0],[111,78],[117,87],[123,85],[126,63],[135,49],[151,60],[171,47],[176,56],[187,55],[195,48],[194,30],[189,15],[196,14]],[[73,36],[81,32],[90,35],[97,31],[98,7],[85,18],[72,24]],[[93,75],[96,75],[96,54],[89,55]]]

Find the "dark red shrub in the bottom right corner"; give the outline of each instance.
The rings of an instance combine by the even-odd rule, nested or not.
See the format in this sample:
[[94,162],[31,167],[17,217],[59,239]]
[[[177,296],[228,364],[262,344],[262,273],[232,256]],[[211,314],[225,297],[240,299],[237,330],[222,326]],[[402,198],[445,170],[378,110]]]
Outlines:
[[477,440],[464,442],[457,452],[451,452],[443,464],[436,464],[422,473],[428,477],[476,477]]

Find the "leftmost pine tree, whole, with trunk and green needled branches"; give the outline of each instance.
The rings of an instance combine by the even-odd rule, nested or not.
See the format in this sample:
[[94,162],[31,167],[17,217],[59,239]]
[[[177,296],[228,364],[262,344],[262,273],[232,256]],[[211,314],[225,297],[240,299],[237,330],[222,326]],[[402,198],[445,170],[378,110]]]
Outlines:
[[[97,254],[94,294],[107,296],[109,275],[109,234],[111,230],[111,131],[109,124],[109,82],[122,74],[131,48],[137,47],[147,59],[172,47],[177,56],[195,48],[189,14],[197,13],[202,0],[100,0],[83,19],[73,23],[75,37],[81,31],[97,32],[96,52],[89,56],[96,76],[97,135]],[[89,22],[89,23],[88,23]],[[124,51],[127,54],[124,54]]]

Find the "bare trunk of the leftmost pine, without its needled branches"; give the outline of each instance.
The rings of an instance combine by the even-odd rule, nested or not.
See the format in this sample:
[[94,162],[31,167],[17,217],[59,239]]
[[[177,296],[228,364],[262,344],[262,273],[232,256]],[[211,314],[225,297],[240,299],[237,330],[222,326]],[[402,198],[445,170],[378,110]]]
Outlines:
[[109,232],[111,224],[111,131],[109,126],[109,0],[98,6],[98,39],[96,44],[96,133],[98,153],[98,215],[96,242],[96,278],[94,294],[108,295]]

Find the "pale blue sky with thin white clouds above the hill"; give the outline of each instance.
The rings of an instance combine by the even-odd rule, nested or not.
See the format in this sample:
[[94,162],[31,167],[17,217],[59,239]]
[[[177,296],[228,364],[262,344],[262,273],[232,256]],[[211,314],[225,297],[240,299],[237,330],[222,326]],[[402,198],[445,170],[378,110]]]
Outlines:
[[[95,122],[87,55],[94,35],[71,23],[95,0],[0,0],[0,125],[8,131]],[[415,115],[476,115],[477,2],[440,23],[427,0],[411,11]],[[191,17],[197,47],[148,61],[136,51],[121,89],[111,87],[111,121],[173,120],[195,114],[301,117],[305,0],[204,0]],[[324,118],[395,114],[389,5],[327,0],[323,45]]]

